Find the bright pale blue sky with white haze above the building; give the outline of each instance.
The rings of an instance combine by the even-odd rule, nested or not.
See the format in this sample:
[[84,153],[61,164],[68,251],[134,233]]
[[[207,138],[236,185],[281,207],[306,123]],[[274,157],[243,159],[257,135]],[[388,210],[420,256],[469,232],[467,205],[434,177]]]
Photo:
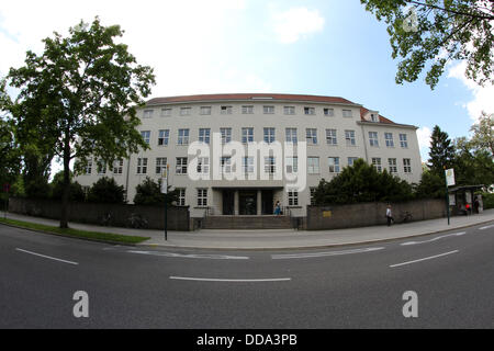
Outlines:
[[[42,39],[81,20],[119,24],[138,64],[155,69],[150,98],[262,92],[341,97],[396,123],[419,127],[423,161],[435,125],[469,136],[494,87],[464,78],[451,63],[435,90],[424,77],[396,84],[385,23],[359,0],[3,1],[0,77],[23,65]],[[56,167],[55,167],[56,168]]]

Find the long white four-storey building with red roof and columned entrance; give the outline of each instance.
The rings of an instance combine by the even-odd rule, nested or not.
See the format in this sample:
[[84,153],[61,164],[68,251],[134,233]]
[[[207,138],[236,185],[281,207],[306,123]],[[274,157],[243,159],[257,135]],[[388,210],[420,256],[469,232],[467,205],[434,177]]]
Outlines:
[[[294,216],[305,216],[311,204],[311,190],[321,179],[330,180],[358,158],[388,169],[409,183],[418,183],[422,174],[416,126],[396,124],[343,98],[294,94],[207,94],[158,98],[137,112],[138,127],[150,149],[132,155],[112,168],[101,168],[93,160],[87,174],[77,181],[89,186],[99,178],[113,177],[127,191],[132,203],[135,188],[146,177],[158,180],[169,165],[169,184],[180,189],[179,205],[189,205],[191,217],[201,217],[207,208],[214,215],[272,214],[280,201]],[[307,141],[306,169],[295,158],[247,157],[242,168],[247,173],[283,173],[303,171],[306,188],[287,191],[288,182],[273,179],[191,180],[188,155],[193,141],[213,144],[213,134],[221,133],[223,144],[239,141]],[[217,167],[231,171],[227,155],[202,159],[200,171]],[[281,162],[280,162],[281,161]],[[215,165],[218,163],[218,165]],[[305,168],[305,167],[304,167]]]

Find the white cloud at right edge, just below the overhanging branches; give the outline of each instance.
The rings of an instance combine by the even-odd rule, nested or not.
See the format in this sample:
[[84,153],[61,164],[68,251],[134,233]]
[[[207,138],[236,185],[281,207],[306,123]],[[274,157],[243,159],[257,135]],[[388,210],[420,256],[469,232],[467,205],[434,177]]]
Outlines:
[[476,84],[464,76],[467,61],[460,61],[448,70],[448,78],[457,78],[472,92],[473,99],[462,106],[467,109],[470,118],[476,123],[482,111],[494,113],[494,86],[486,83],[484,87]]

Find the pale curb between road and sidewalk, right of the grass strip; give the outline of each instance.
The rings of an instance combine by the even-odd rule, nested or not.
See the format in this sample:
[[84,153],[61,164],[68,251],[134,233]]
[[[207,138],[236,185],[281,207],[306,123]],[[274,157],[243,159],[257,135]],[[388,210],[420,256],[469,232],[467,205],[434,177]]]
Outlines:
[[400,239],[409,239],[409,238],[417,238],[417,237],[424,237],[428,235],[435,235],[440,234],[445,231],[456,230],[456,229],[463,229],[463,228],[470,228],[479,225],[483,225],[486,223],[494,222],[494,218],[482,220],[474,224],[469,225],[462,225],[454,228],[446,228],[446,229],[439,229],[434,230],[429,233],[420,233],[420,234],[414,234],[414,235],[407,235],[404,237],[392,237],[392,238],[383,238],[383,239],[375,239],[375,240],[364,240],[364,241],[350,241],[350,242],[338,242],[338,244],[328,244],[328,245],[317,245],[317,246],[297,246],[297,247],[198,247],[198,246],[181,246],[181,245],[161,245],[161,244],[136,244],[136,247],[139,248],[171,248],[171,249],[193,249],[193,250],[218,250],[218,251],[288,251],[288,250],[305,250],[305,249],[323,249],[323,248],[335,248],[335,247],[344,247],[344,246],[359,246],[359,245],[368,245],[368,244],[379,244],[379,242],[386,242],[386,241],[394,241]]

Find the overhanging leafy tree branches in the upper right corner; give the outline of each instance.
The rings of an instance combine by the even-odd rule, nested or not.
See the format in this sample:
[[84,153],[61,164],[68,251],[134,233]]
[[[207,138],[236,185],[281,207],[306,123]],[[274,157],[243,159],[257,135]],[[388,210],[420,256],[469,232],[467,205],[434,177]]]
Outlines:
[[494,82],[494,1],[360,1],[388,24],[392,57],[402,58],[396,83],[417,80],[429,66],[425,80],[434,89],[451,60],[465,60],[465,76],[479,84]]

